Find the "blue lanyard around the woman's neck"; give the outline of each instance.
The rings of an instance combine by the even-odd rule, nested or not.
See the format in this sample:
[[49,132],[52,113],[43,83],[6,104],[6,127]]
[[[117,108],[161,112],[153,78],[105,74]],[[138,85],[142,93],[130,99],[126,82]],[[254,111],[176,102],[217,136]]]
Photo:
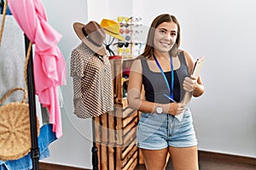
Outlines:
[[[170,56],[170,60],[171,60],[171,72],[172,72],[172,86],[170,88],[170,85],[169,85],[169,82],[166,78],[166,75],[164,73],[164,71],[162,70],[161,68],[161,65],[159,64],[158,60],[156,59],[156,57],[154,56],[153,54],[153,57],[154,57],[154,60],[155,60],[155,63],[156,65],[159,67],[161,73],[162,73],[162,76],[164,77],[165,81],[166,81],[166,86],[168,87],[168,90],[169,90],[169,93],[170,93],[170,97],[171,97],[171,100],[173,100],[173,88],[174,88],[174,71],[173,71],[173,65],[172,65],[172,56]],[[165,94],[166,96],[166,94]]]

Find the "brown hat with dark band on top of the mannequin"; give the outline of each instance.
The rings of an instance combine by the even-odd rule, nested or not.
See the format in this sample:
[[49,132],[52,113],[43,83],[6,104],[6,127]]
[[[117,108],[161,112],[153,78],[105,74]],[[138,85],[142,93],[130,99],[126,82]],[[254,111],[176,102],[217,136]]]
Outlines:
[[84,44],[96,54],[107,54],[106,49],[102,45],[106,38],[106,33],[103,31],[102,26],[96,23],[96,21],[90,21],[86,25],[75,22],[73,24],[73,29]]

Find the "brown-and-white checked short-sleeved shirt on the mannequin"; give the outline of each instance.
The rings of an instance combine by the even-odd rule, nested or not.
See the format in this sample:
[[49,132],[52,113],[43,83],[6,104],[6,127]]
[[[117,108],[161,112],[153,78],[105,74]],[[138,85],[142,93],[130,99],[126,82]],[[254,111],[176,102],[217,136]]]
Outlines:
[[113,111],[113,79],[107,55],[95,54],[82,42],[72,51],[70,76],[76,116],[91,118]]

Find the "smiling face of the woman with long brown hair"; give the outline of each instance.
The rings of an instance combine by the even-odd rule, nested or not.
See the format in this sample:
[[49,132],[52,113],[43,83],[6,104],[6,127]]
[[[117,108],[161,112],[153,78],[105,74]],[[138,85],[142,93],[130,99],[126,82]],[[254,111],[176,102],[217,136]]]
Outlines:
[[163,22],[154,31],[154,49],[160,53],[168,53],[177,39],[177,24]]

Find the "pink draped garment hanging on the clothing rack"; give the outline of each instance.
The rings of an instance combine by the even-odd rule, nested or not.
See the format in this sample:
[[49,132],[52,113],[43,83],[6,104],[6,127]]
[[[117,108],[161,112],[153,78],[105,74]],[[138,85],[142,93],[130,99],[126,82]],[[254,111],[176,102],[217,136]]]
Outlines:
[[40,103],[49,110],[56,137],[62,135],[61,109],[57,87],[66,84],[65,59],[57,43],[61,34],[47,23],[40,0],[9,0],[9,8],[22,31],[35,44],[33,59],[35,90]]

